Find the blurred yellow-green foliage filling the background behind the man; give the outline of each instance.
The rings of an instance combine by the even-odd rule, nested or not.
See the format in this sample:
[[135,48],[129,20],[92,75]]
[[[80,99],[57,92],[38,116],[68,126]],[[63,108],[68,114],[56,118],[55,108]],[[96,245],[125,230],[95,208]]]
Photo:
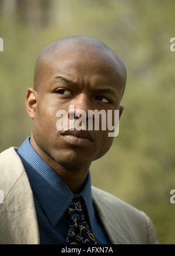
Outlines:
[[92,184],[146,212],[159,242],[175,244],[175,204],[170,203],[175,189],[175,52],[170,51],[175,2],[55,2],[58,19],[50,25],[23,22],[19,13],[8,16],[0,10],[0,150],[19,147],[30,135],[24,101],[43,47],[65,36],[96,37],[121,57],[128,78],[119,136],[92,163]]

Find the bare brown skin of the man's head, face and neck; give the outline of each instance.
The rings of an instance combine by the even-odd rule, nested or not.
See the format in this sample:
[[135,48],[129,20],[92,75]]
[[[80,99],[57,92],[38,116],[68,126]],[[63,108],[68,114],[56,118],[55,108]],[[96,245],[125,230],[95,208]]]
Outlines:
[[[67,41],[50,50],[37,68],[26,109],[33,119],[30,143],[73,193],[78,193],[92,161],[111,147],[108,130],[81,133],[56,129],[59,109],[119,109],[126,72],[113,54],[92,44]],[[76,120],[77,117],[75,117]]]

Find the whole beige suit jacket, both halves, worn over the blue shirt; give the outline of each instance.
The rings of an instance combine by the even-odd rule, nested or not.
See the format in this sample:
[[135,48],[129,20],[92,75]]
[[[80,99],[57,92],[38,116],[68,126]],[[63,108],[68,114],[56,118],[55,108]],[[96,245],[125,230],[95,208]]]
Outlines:
[[[17,148],[0,154],[0,244],[39,244],[33,192]],[[156,232],[145,213],[100,189],[92,199],[112,244],[156,244]]]

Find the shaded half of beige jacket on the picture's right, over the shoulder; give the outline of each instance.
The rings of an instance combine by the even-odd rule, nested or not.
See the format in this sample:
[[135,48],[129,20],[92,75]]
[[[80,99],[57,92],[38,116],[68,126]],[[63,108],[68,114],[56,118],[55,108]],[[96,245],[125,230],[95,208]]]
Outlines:
[[134,244],[156,244],[156,231],[152,220],[141,210],[129,205],[108,192],[92,186],[93,203],[103,221],[117,227],[122,241]]

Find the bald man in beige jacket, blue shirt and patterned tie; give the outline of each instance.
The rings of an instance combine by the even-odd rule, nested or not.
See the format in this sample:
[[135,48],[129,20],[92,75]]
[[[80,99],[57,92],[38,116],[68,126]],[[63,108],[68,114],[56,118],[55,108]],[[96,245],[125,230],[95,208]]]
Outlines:
[[67,37],[41,51],[26,95],[31,136],[0,157],[1,244],[157,243],[145,213],[90,185],[91,162],[113,143],[108,129],[57,129],[58,110],[66,110],[68,124],[82,110],[86,122],[88,110],[120,117],[125,83],[120,58],[91,37]]

